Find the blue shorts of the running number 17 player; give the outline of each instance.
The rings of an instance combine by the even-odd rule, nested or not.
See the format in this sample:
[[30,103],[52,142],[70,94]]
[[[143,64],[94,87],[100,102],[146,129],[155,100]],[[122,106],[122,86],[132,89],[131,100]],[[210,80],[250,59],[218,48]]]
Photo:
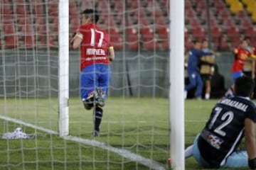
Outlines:
[[[80,72],[80,96],[82,101],[97,87],[107,94],[110,84],[110,66],[107,64],[91,64]],[[107,95],[104,95],[105,98]]]

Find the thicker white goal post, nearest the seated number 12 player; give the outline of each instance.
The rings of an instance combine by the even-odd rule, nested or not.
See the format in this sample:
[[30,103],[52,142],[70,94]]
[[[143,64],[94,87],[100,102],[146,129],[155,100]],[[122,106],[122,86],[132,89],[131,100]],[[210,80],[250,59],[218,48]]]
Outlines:
[[170,123],[171,165],[173,169],[185,169],[184,157],[184,0],[170,3]]

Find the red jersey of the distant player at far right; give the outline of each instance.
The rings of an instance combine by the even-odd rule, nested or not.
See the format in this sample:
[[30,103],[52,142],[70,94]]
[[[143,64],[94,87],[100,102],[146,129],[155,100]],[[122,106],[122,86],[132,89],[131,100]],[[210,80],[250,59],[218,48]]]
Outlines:
[[242,72],[247,57],[251,57],[251,53],[248,50],[242,47],[235,49],[235,60],[232,66],[232,72]]

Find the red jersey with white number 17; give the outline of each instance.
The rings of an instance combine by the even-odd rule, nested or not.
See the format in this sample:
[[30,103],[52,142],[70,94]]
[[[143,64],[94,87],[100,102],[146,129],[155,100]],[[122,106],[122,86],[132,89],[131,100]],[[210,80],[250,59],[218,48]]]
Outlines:
[[78,28],[77,36],[82,38],[81,70],[94,63],[110,63],[108,50],[112,45],[110,45],[110,38],[105,30],[97,27],[95,23],[89,23]]

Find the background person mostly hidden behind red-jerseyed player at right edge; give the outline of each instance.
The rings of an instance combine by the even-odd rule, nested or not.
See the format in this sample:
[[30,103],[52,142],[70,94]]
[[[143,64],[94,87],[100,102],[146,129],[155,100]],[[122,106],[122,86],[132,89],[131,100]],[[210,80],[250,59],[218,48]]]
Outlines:
[[[250,37],[245,37],[244,40],[247,41],[246,49],[253,54],[255,48],[250,46]],[[243,73],[249,77],[252,77],[252,79],[255,79],[255,60],[252,60],[252,58],[250,57],[248,57],[247,60],[245,60]]]

